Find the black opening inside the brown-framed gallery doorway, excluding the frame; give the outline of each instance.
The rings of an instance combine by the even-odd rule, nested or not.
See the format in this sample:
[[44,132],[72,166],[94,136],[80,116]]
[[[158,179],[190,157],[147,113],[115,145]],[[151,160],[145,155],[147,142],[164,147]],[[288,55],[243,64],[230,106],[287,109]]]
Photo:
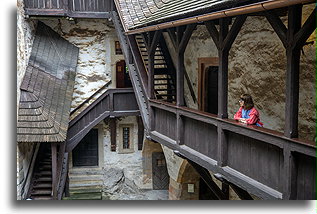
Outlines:
[[218,114],[218,66],[207,67],[205,74],[205,111],[211,114]]

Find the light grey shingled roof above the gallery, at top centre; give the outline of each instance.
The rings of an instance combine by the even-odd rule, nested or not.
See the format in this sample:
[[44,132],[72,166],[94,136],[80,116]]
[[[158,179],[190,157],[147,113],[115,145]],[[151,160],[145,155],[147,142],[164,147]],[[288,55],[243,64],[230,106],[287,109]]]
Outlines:
[[114,0],[125,31],[254,2],[250,0]]

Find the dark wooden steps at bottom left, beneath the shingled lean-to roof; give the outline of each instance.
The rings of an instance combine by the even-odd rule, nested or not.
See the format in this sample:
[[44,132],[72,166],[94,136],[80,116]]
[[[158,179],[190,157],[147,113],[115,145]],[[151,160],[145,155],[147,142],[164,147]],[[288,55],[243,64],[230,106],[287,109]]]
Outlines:
[[52,200],[52,158],[50,144],[42,143],[33,170],[28,198]]

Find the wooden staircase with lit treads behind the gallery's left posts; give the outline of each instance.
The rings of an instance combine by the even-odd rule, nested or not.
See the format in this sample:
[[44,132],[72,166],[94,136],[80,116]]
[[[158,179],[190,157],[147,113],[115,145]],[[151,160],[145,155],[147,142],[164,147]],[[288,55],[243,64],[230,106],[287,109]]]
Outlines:
[[[144,67],[148,68],[148,52],[142,35],[135,36]],[[154,91],[157,99],[176,102],[175,71],[166,61],[166,52],[158,44],[154,55]]]

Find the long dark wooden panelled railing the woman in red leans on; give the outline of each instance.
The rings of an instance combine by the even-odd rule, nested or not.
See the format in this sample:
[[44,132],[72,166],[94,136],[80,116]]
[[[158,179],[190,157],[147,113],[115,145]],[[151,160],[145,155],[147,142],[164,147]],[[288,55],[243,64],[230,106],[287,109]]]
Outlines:
[[264,199],[316,198],[316,145],[150,100],[150,136]]

